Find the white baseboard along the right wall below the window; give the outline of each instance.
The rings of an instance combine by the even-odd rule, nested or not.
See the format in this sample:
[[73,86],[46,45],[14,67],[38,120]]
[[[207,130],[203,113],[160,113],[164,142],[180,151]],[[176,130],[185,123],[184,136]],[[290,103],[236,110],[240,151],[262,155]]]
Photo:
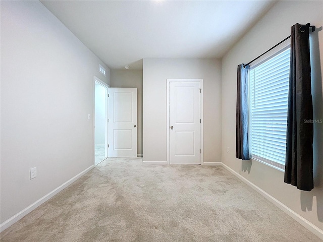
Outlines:
[[226,164],[222,163],[222,165],[223,165],[224,168],[226,168],[232,174],[234,174],[239,179],[241,179],[245,184],[249,185],[251,188],[253,188],[256,192],[258,192],[259,194],[261,194],[268,201],[270,201],[273,204],[275,204],[278,208],[280,208],[281,210],[283,210],[290,217],[292,217],[293,219],[295,219],[297,222],[299,222],[301,225],[303,225],[305,228],[307,228],[309,231],[311,231],[313,234],[315,234],[317,237],[319,237],[320,239],[323,240],[323,230],[321,230],[320,228],[318,228],[317,226],[315,226],[314,224],[312,224],[311,222],[309,222],[308,220],[306,220],[305,218],[303,218],[302,216],[300,216],[298,213],[294,212],[292,209],[290,209],[285,204],[283,204],[280,201],[278,201],[276,198],[274,198],[270,194],[268,194],[265,191],[263,191],[261,188],[257,187],[253,183],[251,183],[251,181],[249,181],[248,179],[246,179],[245,177],[243,177],[242,175],[240,175],[238,172],[236,172],[233,169],[231,169]]

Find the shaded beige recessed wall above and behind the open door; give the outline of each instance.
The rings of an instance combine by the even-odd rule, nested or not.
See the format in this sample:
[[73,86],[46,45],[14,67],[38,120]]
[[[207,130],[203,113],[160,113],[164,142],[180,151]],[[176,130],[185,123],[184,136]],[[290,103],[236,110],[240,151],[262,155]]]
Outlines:
[[111,87],[137,88],[137,154],[142,155],[142,70],[111,70]]

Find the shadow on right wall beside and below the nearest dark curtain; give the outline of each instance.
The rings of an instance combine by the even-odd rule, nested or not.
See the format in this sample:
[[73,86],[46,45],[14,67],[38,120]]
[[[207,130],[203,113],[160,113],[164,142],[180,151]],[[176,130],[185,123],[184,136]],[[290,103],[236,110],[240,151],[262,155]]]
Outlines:
[[311,211],[313,199],[316,197],[317,218],[323,222],[323,93],[322,93],[322,70],[319,54],[318,31],[322,26],[310,34],[310,57],[311,57],[311,78],[313,97],[313,176],[314,189],[310,192],[301,191],[302,211]]

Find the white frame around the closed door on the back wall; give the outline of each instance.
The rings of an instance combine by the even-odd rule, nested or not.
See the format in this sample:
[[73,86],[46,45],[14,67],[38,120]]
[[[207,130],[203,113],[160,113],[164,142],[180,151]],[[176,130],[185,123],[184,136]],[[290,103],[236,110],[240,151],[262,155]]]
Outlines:
[[200,117],[201,117],[201,165],[204,158],[203,140],[203,79],[167,79],[166,84],[166,130],[167,130],[167,163],[170,164],[170,83],[171,82],[199,82],[200,83]]

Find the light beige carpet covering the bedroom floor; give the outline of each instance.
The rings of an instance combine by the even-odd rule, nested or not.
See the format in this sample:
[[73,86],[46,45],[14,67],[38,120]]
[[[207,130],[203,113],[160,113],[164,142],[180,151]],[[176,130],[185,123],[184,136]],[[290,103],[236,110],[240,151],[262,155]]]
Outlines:
[[1,233],[7,241],[321,240],[220,166],[101,162]]

